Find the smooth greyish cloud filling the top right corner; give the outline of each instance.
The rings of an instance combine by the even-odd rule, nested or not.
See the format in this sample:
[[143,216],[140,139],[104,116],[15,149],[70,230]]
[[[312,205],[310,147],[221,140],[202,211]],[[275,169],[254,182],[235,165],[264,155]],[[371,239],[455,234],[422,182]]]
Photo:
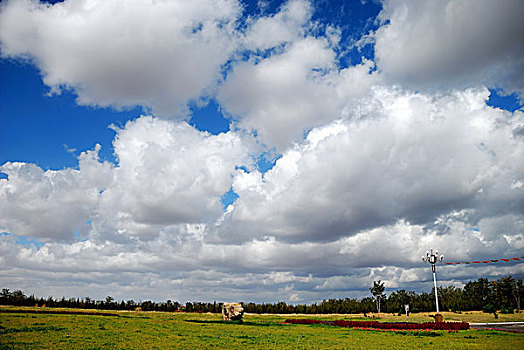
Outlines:
[[385,1],[378,68],[409,88],[487,84],[524,96],[524,3]]

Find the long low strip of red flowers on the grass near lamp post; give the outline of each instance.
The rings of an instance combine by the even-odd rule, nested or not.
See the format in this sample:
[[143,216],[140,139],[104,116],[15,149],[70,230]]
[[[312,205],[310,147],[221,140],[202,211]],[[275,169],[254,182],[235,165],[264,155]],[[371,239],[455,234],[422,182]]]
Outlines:
[[378,322],[378,321],[321,321],[310,319],[288,319],[285,323],[291,324],[330,324],[337,327],[350,328],[375,328],[375,329],[401,329],[401,330],[446,330],[458,331],[469,329],[467,322]]

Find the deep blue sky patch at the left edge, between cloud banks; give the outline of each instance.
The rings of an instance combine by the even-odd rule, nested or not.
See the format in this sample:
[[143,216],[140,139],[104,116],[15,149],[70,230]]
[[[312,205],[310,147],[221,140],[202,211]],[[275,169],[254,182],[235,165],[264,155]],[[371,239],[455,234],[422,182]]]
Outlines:
[[81,107],[75,96],[65,92],[48,96],[38,69],[29,63],[2,60],[1,80],[1,162],[31,162],[44,169],[77,166],[69,150],[85,150],[100,143],[103,159],[113,161],[112,123],[125,124],[140,115],[141,109],[117,112],[112,109]]

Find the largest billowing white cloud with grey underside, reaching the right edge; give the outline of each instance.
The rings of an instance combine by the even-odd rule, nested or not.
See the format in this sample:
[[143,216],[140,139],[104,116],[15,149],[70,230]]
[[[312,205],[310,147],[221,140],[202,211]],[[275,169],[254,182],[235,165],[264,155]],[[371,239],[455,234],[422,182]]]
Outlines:
[[365,118],[314,129],[265,174],[238,174],[239,199],[218,231],[225,239],[329,241],[461,209],[520,214],[524,144],[513,131],[523,115],[486,106],[488,95],[376,89]]

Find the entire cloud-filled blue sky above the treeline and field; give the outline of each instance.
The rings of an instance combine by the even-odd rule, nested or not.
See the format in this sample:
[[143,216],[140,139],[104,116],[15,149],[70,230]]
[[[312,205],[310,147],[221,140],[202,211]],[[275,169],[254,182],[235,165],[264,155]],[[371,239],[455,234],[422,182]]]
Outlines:
[[518,254],[522,4],[503,1],[2,2],[0,283],[313,302],[425,290],[406,256],[432,247]]

